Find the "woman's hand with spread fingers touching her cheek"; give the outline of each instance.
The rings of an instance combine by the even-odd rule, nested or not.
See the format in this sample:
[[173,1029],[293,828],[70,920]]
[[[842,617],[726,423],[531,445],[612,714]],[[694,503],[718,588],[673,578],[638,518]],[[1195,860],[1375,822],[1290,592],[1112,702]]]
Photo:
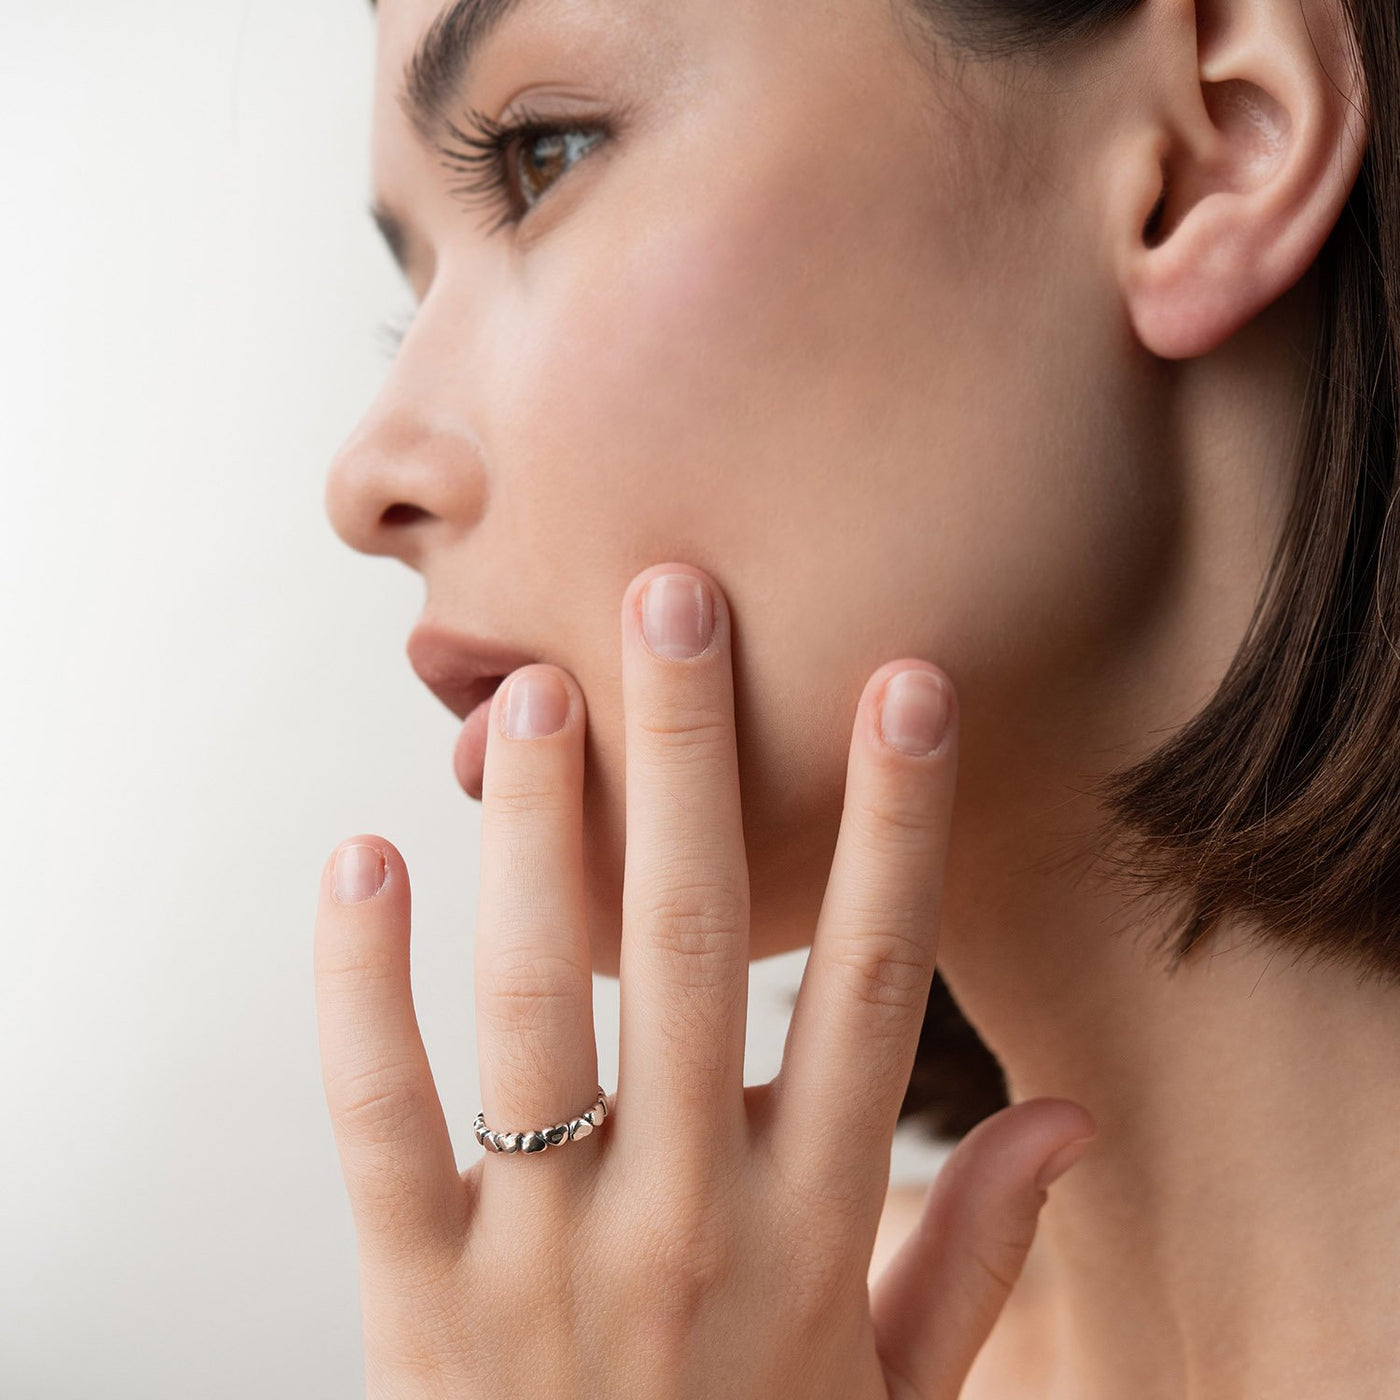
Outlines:
[[[322,872],[321,1053],[370,1397],[952,1400],[1021,1273],[1040,1169],[1070,1165],[1095,1126],[1057,1099],[979,1124],[868,1289],[938,944],[951,682],[909,659],[867,682],[783,1065],[746,1089],[728,603],[700,570],[658,566],[627,588],[622,629],[622,1039],[592,1133],[459,1172],[413,1011],[403,860],[363,836]],[[556,666],[521,668],[491,703],[476,1026],[484,1121],[503,1134],[598,1098],[584,731]]]

